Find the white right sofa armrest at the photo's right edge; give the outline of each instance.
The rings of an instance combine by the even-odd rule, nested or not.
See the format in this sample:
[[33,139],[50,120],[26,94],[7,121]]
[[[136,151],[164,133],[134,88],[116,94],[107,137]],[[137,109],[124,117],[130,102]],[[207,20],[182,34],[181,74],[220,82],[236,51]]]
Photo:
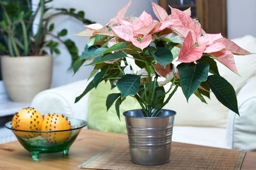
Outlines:
[[237,95],[239,115],[230,111],[227,144],[239,150],[256,150],[256,76],[250,78]]

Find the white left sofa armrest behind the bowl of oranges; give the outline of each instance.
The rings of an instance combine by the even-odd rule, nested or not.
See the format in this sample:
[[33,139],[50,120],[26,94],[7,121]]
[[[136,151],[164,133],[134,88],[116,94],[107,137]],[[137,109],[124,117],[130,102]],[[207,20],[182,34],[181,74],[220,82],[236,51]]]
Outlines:
[[74,101],[88,83],[87,80],[81,80],[54,89],[44,90],[34,97],[31,106],[43,114],[63,113],[68,117],[86,120],[88,94],[78,103],[74,103]]

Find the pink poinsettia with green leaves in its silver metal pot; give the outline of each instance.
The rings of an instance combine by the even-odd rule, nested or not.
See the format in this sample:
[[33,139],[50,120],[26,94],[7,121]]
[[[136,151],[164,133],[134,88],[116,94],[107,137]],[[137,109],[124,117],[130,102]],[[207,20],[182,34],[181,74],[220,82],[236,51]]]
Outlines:
[[[172,102],[181,87],[188,100],[195,94],[205,102],[210,91],[227,108],[239,114],[236,93],[221,77],[216,60],[237,73],[234,56],[250,52],[223,38],[207,34],[191,11],[171,8],[172,14],[156,3],[152,8],[158,20],[143,11],[140,17],[125,17],[129,2],[108,24],[87,25],[80,36],[90,36],[84,52],[74,64],[74,71],[86,65],[94,66],[92,81],[76,102],[100,81],[110,81],[120,93],[109,94],[106,105],[119,106],[132,96],[140,110],[124,113],[129,136],[132,162],[163,164],[170,160],[170,144],[175,111],[163,110]],[[238,74],[238,73],[237,73]],[[168,90],[164,90],[167,85]]]

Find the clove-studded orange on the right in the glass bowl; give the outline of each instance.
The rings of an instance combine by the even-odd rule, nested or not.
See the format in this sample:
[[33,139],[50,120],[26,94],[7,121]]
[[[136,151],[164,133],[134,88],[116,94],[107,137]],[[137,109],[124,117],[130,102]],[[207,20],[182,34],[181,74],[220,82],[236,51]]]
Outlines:
[[[44,115],[41,131],[63,131],[70,129],[70,122],[68,118],[61,114],[47,114]],[[64,132],[42,132],[41,136],[49,143],[62,143],[70,137],[70,131]]]

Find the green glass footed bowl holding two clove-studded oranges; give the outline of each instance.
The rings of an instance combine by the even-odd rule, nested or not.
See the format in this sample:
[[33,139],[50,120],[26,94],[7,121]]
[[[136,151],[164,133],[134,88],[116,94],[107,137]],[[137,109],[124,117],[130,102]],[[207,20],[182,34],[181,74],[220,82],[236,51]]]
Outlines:
[[[84,120],[77,118],[68,118],[68,120],[71,129],[63,131],[21,131],[12,129],[12,122],[7,122],[5,127],[12,130],[20,144],[31,153],[32,159],[38,160],[40,153],[63,152],[64,155],[68,154],[68,150],[79,132],[87,125]],[[31,136],[31,138],[24,136]],[[51,143],[47,138],[58,138],[58,142]]]

